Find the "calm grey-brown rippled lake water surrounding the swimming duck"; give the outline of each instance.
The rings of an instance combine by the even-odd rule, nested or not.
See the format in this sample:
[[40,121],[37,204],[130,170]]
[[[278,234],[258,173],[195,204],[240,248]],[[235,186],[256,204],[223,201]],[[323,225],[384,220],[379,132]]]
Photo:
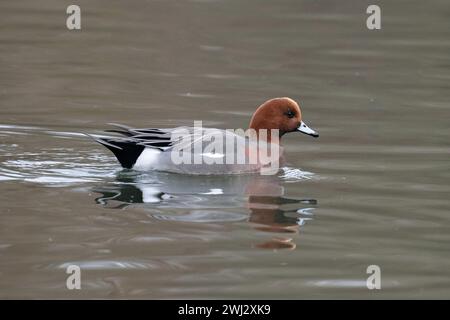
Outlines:
[[[76,3],[81,31],[0,3],[0,298],[450,298],[448,1],[374,1],[379,31],[359,0]],[[81,134],[278,96],[320,138],[276,176],[122,171]]]

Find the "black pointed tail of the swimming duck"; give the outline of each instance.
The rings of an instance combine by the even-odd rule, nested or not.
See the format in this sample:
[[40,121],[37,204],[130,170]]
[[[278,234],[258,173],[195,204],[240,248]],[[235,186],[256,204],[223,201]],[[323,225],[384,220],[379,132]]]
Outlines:
[[137,142],[133,139],[90,137],[111,150],[117,160],[119,160],[122,167],[127,169],[131,169],[133,167],[137,158],[139,158],[142,151],[145,149],[145,146],[137,144]]

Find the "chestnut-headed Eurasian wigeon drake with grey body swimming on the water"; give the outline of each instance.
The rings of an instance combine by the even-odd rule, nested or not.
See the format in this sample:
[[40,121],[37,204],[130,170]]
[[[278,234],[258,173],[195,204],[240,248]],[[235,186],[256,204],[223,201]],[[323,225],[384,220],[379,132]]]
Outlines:
[[[278,164],[282,158],[279,141],[283,135],[302,132],[313,137],[319,136],[302,121],[299,105],[290,98],[270,99],[256,109],[248,132],[255,133],[253,137],[257,138],[257,143],[253,143],[255,140],[251,139],[251,135],[223,129],[199,128],[195,123],[194,127],[144,129],[113,125],[118,129],[107,131],[119,133],[122,137],[93,138],[111,150],[122,167],[138,171],[157,170],[185,174],[256,172],[273,164],[263,162],[258,157],[257,162],[249,161],[252,159],[252,151],[258,151],[262,159],[263,153],[260,150],[265,148],[265,155],[276,155],[276,159],[272,158],[271,161]],[[228,141],[232,141],[231,149],[228,148]],[[244,162],[237,160],[242,160],[239,158],[240,151],[244,155]],[[184,161],[186,159],[188,161]]]

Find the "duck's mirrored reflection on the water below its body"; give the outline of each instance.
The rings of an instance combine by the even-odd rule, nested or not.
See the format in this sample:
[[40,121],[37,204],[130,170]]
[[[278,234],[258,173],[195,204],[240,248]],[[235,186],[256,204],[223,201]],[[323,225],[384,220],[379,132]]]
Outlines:
[[286,197],[278,176],[186,176],[121,171],[114,183],[93,191],[101,194],[95,201],[108,208],[167,209],[159,210],[164,214],[151,214],[161,220],[249,221],[254,229],[273,233],[269,241],[257,244],[269,249],[294,249],[296,244],[289,234],[298,233],[312,219],[317,205],[314,199]]

